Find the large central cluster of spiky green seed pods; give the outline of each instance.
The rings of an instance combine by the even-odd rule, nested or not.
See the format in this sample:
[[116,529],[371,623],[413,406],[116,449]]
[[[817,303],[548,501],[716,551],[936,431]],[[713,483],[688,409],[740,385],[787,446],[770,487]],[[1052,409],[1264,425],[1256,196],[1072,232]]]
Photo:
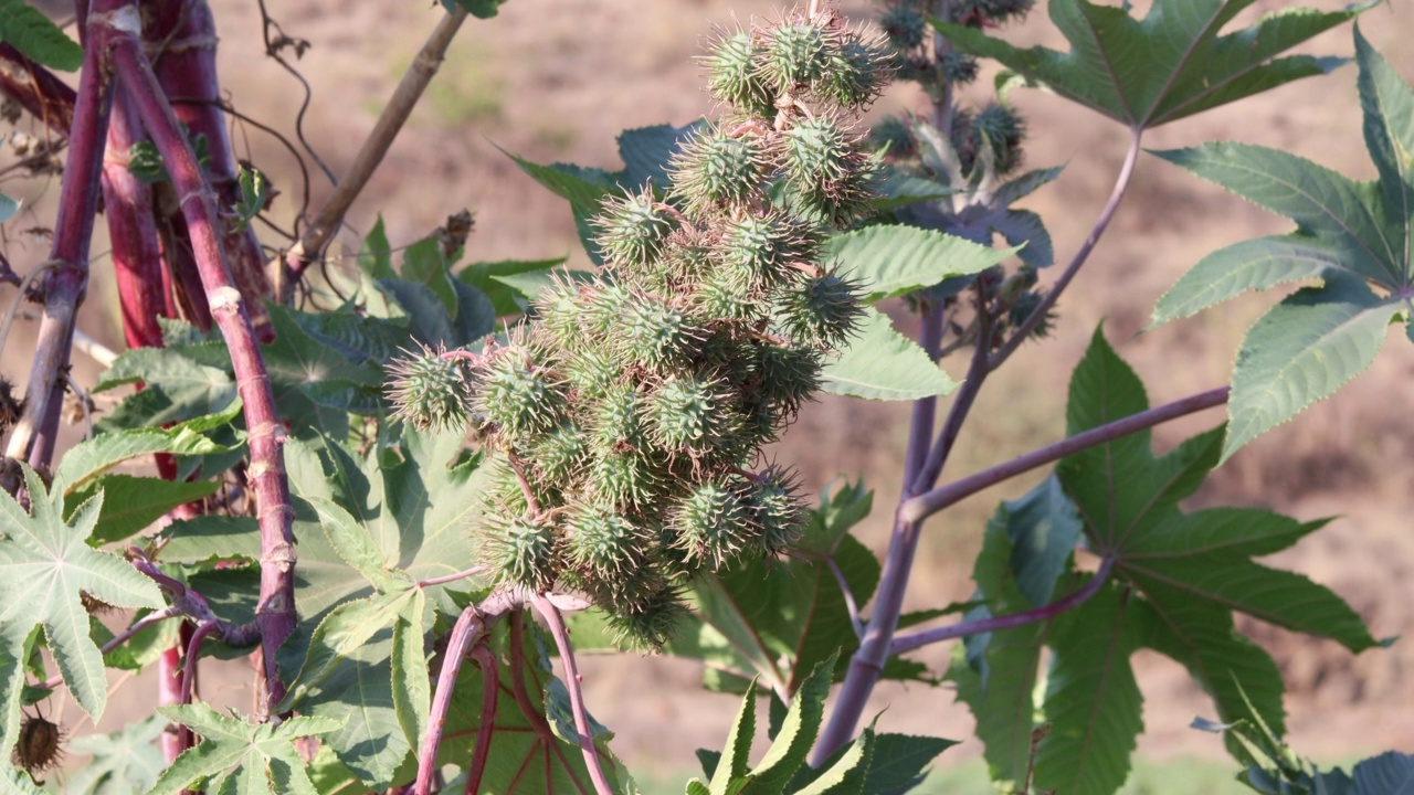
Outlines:
[[[820,246],[868,205],[853,120],[881,52],[833,10],[724,33],[704,64],[725,119],[680,147],[666,192],[605,202],[605,267],[547,287],[509,341],[399,366],[419,378],[393,389],[403,416],[461,409],[489,448],[474,532],[502,583],[584,593],[653,645],[690,577],[789,552],[799,488],[761,447],[863,315]],[[437,378],[462,395],[428,400]]]

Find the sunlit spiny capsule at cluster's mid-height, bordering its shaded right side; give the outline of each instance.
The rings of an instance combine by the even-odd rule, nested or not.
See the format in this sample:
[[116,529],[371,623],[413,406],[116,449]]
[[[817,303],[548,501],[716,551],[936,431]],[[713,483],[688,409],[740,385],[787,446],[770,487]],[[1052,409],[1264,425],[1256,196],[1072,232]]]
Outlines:
[[732,409],[725,385],[694,376],[669,378],[653,392],[648,406],[653,440],[663,450],[706,455],[730,444],[741,416]]

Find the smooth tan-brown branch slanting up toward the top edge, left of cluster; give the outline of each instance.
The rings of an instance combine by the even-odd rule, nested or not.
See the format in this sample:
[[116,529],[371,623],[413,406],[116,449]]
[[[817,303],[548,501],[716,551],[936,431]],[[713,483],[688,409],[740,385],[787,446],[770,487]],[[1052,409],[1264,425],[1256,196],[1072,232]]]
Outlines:
[[294,284],[303,277],[305,269],[324,256],[325,246],[329,245],[334,233],[344,224],[344,216],[354,207],[354,199],[368,185],[368,180],[373,175],[378,164],[383,161],[383,156],[393,146],[397,133],[407,123],[407,117],[423,96],[423,91],[427,89],[427,83],[431,82],[433,75],[441,66],[443,58],[447,57],[447,47],[465,20],[467,11],[458,6],[437,23],[437,27],[433,28],[431,35],[423,44],[421,51],[413,58],[411,65],[407,66],[407,72],[403,74],[403,79],[393,91],[393,96],[389,98],[387,106],[373,124],[373,130],[363,140],[363,146],[359,147],[354,163],[344,173],[344,178],[339,180],[338,187],[334,188],[329,198],[324,201],[324,205],[310,219],[304,236],[279,260],[270,265],[280,284],[279,293],[281,301],[288,300],[294,294]]

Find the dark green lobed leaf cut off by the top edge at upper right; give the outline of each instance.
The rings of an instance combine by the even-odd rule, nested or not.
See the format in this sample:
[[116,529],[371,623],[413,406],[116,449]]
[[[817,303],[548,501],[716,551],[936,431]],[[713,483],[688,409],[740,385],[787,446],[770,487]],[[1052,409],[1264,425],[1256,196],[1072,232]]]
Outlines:
[[995,58],[1060,96],[1141,129],[1329,72],[1343,61],[1280,55],[1374,6],[1284,8],[1222,34],[1253,1],[1157,0],[1140,21],[1128,6],[1052,0],[1051,20],[1069,40],[1069,52],[1021,50],[973,28],[933,25],[963,52]]

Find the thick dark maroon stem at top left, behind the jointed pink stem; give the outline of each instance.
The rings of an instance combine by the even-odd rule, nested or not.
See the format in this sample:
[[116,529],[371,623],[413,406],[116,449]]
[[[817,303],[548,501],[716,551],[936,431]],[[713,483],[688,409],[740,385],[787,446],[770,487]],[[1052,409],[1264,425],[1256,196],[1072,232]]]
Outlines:
[[[153,55],[153,72],[164,96],[185,100],[173,108],[192,136],[206,137],[206,178],[216,191],[216,207],[230,212],[240,198],[236,157],[221,110],[221,79],[216,74],[216,23],[206,0],[144,0],[143,37]],[[236,289],[246,300],[246,311],[256,337],[273,335],[264,301],[271,297],[264,272],[264,252],[255,228],[222,224],[228,265]]]

